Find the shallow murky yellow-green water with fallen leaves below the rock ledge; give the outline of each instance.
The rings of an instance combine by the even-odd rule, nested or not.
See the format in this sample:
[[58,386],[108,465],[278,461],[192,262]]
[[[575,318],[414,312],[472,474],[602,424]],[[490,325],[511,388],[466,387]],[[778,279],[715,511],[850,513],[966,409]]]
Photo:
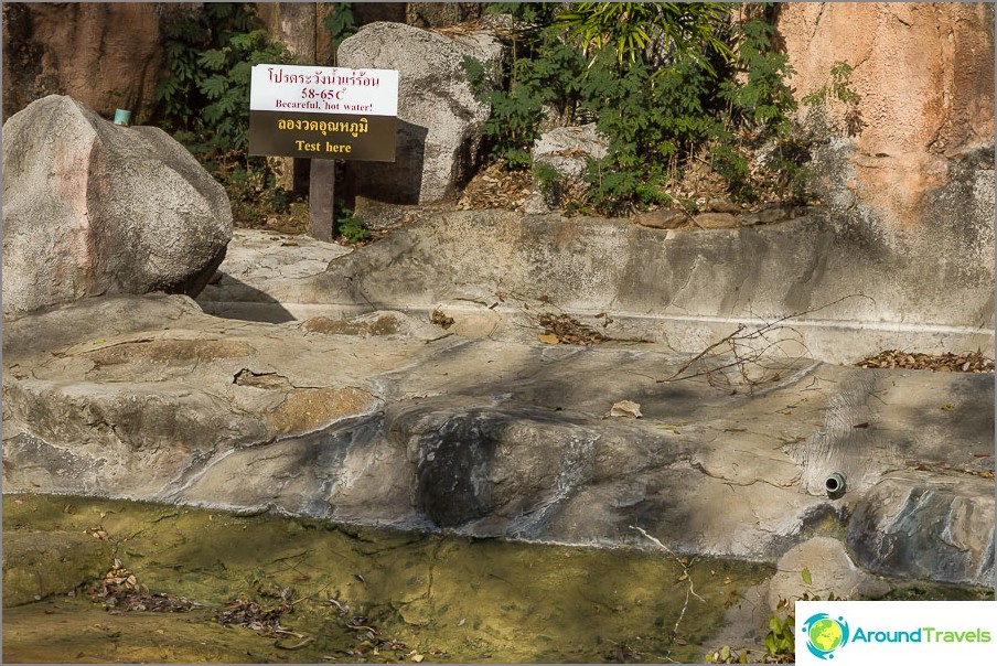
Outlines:
[[[81,589],[7,608],[3,658],[21,663],[701,663],[725,609],[772,573],[635,549],[43,495],[4,496],[3,529],[4,548],[26,530],[106,535],[138,584],[204,606],[108,609]],[[239,597],[277,608],[288,590],[287,634],[214,619]]]

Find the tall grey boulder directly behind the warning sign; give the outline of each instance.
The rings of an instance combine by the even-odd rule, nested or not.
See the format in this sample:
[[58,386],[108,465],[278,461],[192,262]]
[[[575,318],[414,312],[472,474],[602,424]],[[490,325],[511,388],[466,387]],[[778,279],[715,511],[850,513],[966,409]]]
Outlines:
[[[473,32],[449,39],[399,23],[372,23],[340,44],[342,67],[398,69],[398,139],[394,163],[350,164],[358,197],[394,204],[439,202],[472,175],[489,118],[468,85],[462,62],[494,66],[500,42]],[[357,204],[362,208],[362,204]]]

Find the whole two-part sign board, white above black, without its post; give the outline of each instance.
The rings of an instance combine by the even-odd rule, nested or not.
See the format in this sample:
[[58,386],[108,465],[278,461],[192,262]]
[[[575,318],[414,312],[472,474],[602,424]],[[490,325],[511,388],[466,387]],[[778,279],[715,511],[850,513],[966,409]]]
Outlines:
[[398,72],[256,65],[249,154],[395,161]]

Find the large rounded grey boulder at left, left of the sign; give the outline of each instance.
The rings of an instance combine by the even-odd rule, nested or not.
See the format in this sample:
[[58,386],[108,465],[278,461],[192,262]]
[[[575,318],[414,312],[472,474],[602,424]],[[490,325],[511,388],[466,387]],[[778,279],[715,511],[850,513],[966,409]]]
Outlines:
[[224,189],[160,129],[116,127],[56,95],[3,126],[4,311],[196,294],[231,237]]

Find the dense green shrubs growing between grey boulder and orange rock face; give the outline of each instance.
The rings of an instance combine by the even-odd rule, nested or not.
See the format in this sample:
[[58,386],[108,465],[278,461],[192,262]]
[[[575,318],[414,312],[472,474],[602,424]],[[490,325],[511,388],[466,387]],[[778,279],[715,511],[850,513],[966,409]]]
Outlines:
[[[577,2],[493,3],[516,21],[502,82],[465,62],[492,115],[492,155],[530,165],[540,121],[594,121],[609,154],[587,173],[587,203],[620,214],[683,201],[680,183],[706,164],[737,201],[763,193],[806,197],[806,147],[794,138],[796,110],[776,52],[768,4]],[[764,150],[762,150],[764,149]],[[763,158],[759,155],[764,153]]]

